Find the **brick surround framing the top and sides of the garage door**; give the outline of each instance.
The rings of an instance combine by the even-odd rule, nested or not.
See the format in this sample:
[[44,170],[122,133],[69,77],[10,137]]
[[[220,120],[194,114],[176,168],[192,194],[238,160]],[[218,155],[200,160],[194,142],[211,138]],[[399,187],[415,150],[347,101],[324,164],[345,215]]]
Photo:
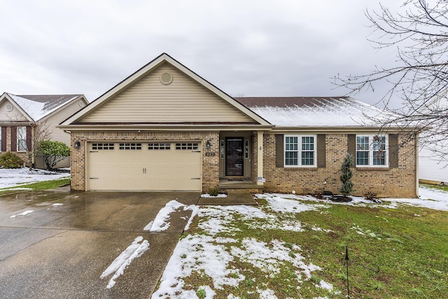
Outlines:
[[[106,131],[71,132],[71,189],[85,190],[85,153],[87,141],[200,141],[202,142],[202,190],[219,184],[219,133],[218,132],[145,132]],[[207,149],[207,141],[211,148]],[[80,148],[74,149],[75,141]]]

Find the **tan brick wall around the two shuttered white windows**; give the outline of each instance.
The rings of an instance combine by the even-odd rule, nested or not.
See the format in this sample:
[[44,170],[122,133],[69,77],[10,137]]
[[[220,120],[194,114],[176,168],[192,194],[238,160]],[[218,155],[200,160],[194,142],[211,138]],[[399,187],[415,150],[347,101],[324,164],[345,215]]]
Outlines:
[[[406,137],[400,135],[401,144]],[[347,134],[325,135],[324,168],[283,168],[276,167],[275,135],[264,136],[265,158],[263,160],[266,183],[265,192],[297,194],[321,193],[329,190],[339,193],[339,176],[342,161],[347,153]],[[399,149],[397,168],[375,168],[353,170],[353,195],[362,196],[368,191],[379,197],[415,197],[416,196],[416,153],[415,142]],[[324,183],[326,182],[326,183]]]

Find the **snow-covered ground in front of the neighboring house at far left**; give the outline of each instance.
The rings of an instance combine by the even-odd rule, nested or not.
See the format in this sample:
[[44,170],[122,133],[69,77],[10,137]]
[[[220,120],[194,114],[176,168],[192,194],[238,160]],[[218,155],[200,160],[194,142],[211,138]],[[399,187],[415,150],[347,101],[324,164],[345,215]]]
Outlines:
[[69,173],[49,172],[43,169],[29,171],[28,167],[18,169],[0,168],[0,189],[20,186],[24,183],[62,179],[69,176]]

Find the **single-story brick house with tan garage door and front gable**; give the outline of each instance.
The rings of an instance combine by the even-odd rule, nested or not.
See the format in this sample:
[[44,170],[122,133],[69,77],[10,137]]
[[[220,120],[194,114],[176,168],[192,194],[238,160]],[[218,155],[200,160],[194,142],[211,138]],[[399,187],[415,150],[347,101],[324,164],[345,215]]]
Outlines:
[[233,98],[164,53],[59,127],[72,190],[338,193],[352,153],[353,194],[415,197],[416,143],[366,123],[379,113],[349,97]]

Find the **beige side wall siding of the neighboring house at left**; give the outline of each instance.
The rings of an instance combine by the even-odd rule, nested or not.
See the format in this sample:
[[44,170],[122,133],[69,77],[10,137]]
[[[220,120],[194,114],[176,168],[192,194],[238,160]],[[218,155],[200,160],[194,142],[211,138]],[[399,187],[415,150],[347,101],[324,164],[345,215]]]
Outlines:
[[56,113],[53,113],[51,116],[48,116],[48,118],[44,118],[41,122],[39,122],[39,124],[48,127],[48,132],[50,132],[50,140],[62,141],[67,146],[70,146],[70,134],[65,133],[64,130],[59,129],[56,126],[81,108],[78,105],[78,102],[79,100],[70,103]]

